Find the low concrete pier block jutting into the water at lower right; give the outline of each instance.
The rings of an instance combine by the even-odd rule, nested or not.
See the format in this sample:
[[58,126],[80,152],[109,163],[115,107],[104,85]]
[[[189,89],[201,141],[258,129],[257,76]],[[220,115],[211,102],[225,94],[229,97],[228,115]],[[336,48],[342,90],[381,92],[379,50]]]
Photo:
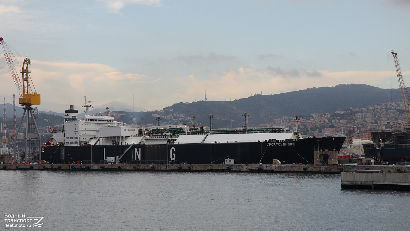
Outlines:
[[377,172],[355,170],[342,172],[342,188],[405,189],[410,190],[409,172]]

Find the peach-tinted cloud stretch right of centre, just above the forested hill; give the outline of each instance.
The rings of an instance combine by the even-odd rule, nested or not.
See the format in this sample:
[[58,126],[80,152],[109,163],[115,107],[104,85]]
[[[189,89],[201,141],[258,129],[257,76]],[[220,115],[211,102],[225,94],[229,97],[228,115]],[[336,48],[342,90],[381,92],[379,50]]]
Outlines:
[[[260,71],[252,66],[241,67],[214,75],[211,78],[201,78],[194,74],[176,81],[185,86],[176,93],[179,98],[202,100],[207,91],[208,100],[229,100],[230,98],[246,98],[255,93],[279,94],[286,91],[297,91],[310,87],[331,87],[338,84],[367,84],[386,88],[385,71],[306,71],[303,69],[283,70],[280,67],[272,71]],[[292,75],[293,74],[293,75]],[[371,82],[369,82],[371,80]],[[175,91],[176,92],[176,91]]]

